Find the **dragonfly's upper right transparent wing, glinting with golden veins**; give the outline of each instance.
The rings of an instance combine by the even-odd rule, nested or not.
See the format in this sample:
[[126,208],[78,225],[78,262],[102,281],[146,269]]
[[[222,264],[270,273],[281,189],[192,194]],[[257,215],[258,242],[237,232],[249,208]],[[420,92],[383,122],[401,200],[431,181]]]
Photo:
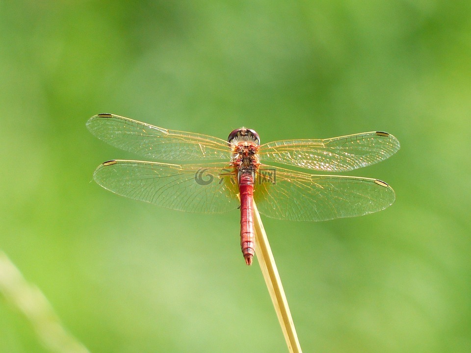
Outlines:
[[323,140],[269,142],[259,149],[271,161],[325,172],[344,172],[378,163],[399,150],[387,132],[373,131]]

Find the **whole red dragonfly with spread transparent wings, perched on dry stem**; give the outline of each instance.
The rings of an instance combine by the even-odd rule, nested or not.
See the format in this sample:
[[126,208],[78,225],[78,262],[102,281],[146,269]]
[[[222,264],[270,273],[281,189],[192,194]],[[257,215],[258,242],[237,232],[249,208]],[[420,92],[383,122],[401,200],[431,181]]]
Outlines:
[[327,173],[366,167],[399,150],[399,141],[387,132],[261,144],[259,134],[245,127],[223,140],[108,113],[91,117],[86,126],[114,147],[156,160],[102,163],[93,177],[105,189],[180,211],[239,208],[240,247],[247,265],[255,254],[254,202],[267,217],[324,221],[377,212],[395,200],[391,186],[379,179],[279,166]]

